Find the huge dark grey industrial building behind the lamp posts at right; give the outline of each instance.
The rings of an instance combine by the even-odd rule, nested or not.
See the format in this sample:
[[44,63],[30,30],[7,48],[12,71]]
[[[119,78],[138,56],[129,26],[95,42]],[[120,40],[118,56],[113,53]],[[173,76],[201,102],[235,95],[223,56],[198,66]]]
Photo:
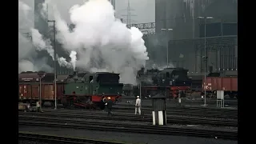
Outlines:
[[155,0],[154,37],[166,47],[167,36],[174,66],[203,72],[206,37],[207,71],[237,70],[237,5],[237,0]]

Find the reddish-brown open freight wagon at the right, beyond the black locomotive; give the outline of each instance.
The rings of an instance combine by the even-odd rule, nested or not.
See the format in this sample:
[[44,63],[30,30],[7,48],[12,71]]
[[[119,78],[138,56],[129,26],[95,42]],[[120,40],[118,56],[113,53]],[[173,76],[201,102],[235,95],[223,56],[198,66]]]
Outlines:
[[206,90],[207,96],[216,98],[217,90],[224,90],[225,95],[230,98],[238,98],[238,77],[207,77],[206,86],[205,79],[202,78],[202,90]]

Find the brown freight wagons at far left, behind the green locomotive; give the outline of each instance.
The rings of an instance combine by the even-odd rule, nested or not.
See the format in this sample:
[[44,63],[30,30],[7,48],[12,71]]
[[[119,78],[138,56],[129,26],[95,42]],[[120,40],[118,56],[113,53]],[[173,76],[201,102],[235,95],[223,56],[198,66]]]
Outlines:
[[[63,79],[62,79],[63,78]],[[57,100],[63,95],[66,76],[57,77]],[[50,102],[54,106],[54,74],[43,74],[41,79],[42,105]],[[40,77],[37,72],[24,72],[19,74],[19,100],[21,102],[37,102],[40,94]],[[59,102],[58,102],[59,103]]]

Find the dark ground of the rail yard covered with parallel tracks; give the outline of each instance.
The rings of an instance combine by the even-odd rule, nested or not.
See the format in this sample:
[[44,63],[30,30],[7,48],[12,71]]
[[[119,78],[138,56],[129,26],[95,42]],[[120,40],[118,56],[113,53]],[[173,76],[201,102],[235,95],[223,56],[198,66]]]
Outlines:
[[[152,125],[150,99],[142,99],[142,115],[134,115],[134,103],[123,98],[113,115],[99,109],[43,107],[42,113],[18,113],[19,143],[237,143],[237,100],[229,108],[207,107],[202,101],[166,102],[166,126]],[[216,102],[216,100],[215,100]]]

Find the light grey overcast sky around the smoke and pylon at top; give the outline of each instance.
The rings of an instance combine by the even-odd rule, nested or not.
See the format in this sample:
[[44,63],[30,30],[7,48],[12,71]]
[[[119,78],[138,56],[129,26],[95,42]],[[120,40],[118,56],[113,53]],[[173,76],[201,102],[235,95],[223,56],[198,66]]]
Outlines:
[[[21,0],[34,10],[34,0]],[[69,10],[75,4],[82,4],[84,0],[51,0],[54,3],[62,18],[70,22]],[[116,0],[116,17],[126,20],[128,0]],[[137,15],[131,17],[131,23],[154,22],[154,0],[130,0],[131,14]],[[52,10],[49,6],[49,19],[51,19]]]

